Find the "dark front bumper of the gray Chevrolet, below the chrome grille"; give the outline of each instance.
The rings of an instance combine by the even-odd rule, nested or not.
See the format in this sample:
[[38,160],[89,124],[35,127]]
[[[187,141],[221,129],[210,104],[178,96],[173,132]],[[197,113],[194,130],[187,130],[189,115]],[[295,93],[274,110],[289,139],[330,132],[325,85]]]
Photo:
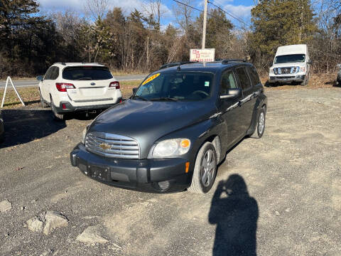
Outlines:
[[81,143],[70,153],[70,160],[96,181],[136,191],[184,191],[192,178],[190,171],[185,172],[186,159],[109,159],[88,152]]

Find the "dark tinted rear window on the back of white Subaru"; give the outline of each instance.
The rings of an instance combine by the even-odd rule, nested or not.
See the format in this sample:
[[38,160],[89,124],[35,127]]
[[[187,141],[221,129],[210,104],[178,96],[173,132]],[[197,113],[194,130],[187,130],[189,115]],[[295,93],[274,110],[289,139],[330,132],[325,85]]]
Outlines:
[[108,80],[112,79],[112,74],[106,67],[70,67],[63,70],[63,79]]

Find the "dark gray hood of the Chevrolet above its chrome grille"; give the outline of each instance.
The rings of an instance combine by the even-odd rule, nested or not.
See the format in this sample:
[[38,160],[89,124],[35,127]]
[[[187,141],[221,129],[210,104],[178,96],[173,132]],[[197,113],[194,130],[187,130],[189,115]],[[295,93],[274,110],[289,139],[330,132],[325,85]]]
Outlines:
[[103,112],[88,132],[107,132],[137,140],[141,158],[157,139],[209,119],[216,112],[212,102],[151,102],[126,100]]

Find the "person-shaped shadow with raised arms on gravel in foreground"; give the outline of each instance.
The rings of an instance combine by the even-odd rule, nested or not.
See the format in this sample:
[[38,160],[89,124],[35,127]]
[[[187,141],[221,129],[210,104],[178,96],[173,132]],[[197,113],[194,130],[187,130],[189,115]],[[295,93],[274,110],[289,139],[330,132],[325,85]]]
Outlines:
[[213,256],[256,256],[259,209],[249,196],[242,176],[220,181],[212,198],[208,220],[217,224]]

